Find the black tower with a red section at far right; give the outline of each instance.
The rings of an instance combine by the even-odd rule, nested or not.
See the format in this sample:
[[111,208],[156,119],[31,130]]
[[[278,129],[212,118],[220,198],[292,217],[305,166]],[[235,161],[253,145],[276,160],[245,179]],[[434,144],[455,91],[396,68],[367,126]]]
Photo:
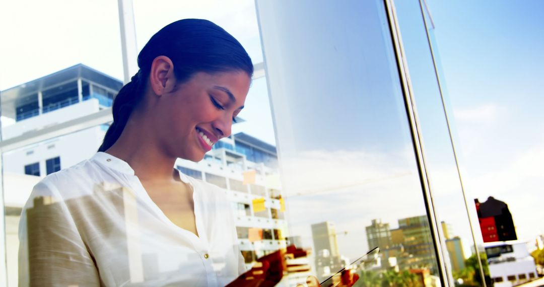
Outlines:
[[484,242],[517,240],[516,228],[508,204],[492,196],[482,203],[474,199],[474,203]]

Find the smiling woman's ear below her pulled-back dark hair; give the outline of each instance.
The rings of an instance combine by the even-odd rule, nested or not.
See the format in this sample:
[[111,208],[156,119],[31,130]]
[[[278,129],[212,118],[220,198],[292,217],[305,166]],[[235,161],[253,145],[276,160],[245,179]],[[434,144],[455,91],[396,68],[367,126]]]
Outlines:
[[162,96],[172,92],[176,86],[172,60],[166,56],[158,56],[153,59],[149,79],[155,95]]

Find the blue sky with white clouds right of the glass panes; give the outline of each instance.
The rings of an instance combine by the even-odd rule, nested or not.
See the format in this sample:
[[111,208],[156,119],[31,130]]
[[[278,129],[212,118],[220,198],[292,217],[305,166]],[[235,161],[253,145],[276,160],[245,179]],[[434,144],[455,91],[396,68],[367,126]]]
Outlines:
[[518,237],[533,240],[544,232],[544,2],[428,4],[469,197],[508,203]]

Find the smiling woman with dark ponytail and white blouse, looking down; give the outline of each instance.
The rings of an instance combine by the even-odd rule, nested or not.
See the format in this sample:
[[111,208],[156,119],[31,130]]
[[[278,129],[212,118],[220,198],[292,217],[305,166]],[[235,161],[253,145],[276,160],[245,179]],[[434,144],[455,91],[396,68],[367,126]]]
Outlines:
[[20,285],[226,285],[245,271],[225,192],[173,170],[200,161],[248,94],[253,65],[206,20],[155,34],[89,160],[36,184],[20,224]]

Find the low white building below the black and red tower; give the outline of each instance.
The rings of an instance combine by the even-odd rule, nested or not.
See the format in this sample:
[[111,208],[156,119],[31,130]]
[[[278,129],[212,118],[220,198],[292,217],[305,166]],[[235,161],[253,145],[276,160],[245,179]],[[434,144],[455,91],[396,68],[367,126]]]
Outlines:
[[494,286],[515,286],[537,278],[535,260],[527,243],[512,240],[484,244]]

